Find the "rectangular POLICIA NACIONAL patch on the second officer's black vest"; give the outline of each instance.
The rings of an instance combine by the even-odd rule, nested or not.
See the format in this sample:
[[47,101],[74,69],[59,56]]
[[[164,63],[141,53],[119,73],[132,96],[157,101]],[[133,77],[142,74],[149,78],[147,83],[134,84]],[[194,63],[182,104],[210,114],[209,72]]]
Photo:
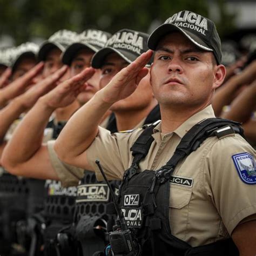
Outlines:
[[107,202],[109,201],[109,187],[106,184],[89,184],[77,186],[76,203]]

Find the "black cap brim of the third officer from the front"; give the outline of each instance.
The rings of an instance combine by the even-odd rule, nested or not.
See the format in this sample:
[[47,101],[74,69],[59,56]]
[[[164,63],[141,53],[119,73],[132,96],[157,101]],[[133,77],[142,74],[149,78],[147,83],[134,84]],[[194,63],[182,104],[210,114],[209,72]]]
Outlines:
[[96,48],[96,46],[93,46],[91,44],[86,44],[86,43],[75,43],[71,44],[64,52],[62,56],[62,63],[65,65],[71,65],[71,62],[73,58],[77,55],[77,52],[89,48],[90,50],[97,52],[99,48]]

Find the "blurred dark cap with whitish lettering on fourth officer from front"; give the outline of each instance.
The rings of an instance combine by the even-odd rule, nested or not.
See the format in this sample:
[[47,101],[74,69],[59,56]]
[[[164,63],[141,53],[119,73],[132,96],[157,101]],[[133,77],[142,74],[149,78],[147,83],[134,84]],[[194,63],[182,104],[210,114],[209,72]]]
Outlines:
[[59,30],[46,40],[39,49],[38,59],[45,60],[48,53],[53,48],[58,48],[60,51],[65,51],[66,48],[73,42],[76,42],[77,33],[69,30]]

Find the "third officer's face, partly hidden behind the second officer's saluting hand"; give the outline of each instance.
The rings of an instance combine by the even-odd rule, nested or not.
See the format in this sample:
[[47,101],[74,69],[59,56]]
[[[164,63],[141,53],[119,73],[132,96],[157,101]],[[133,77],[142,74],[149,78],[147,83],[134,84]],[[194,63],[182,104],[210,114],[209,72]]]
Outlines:
[[[91,59],[94,55],[94,51],[90,49],[80,50],[76,57],[72,60],[70,66],[71,77],[77,75],[81,71],[91,66]],[[86,82],[86,89],[84,92],[79,93],[77,100],[80,105],[88,102],[93,95],[99,90],[99,79],[100,79],[100,70],[96,70],[95,74]]]

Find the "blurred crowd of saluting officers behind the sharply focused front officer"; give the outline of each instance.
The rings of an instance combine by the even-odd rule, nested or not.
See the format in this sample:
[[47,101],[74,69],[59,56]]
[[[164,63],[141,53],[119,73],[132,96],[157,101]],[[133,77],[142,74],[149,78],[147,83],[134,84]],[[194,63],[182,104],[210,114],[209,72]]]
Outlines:
[[[91,179],[94,183],[95,176],[81,176],[75,169],[72,177],[62,178],[62,168],[72,169],[72,166],[57,163],[51,155],[51,144],[45,143],[56,139],[80,106],[147,50],[146,39],[146,34],[132,30],[120,30],[113,36],[95,29],[82,33],[60,30],[40,46],[26,42],[0,51],[1,255],[86,255],[85,252],[92,255],[104,248],[107,240],[104,221],[107,219],[99,205],[97,210],[90,205],[87,211],[90,218],[94,216],[88,225],[94,225],[95,230],[98,228],[98,234],[87,234],[92,247],[83,248],[71,242],[71,234],[75,231],[70,226],[74,221],[76,225],[81,220],[86,222],[82,215],[87,207],[75,206],[79,202],[75,199],[76,192],[72,194],[76,190],[72,186],[76,187],[83,179]],[[242,123],[245,136],[254,148],[255,42],[256,35],[246,35],[238,42],[223,42],[222,63],[227,75],[212,101],[215,116]],[[125,45],[124,50],[122,45]],[[160,119],[149,81],[146,76],[134,95],[115,104],[102,120],[102,126],[111,132],[120,132]],[[59,171],[53,172],[52,168]],[[46,183],[42,181],[46,179]],[[113,184],[113,188],[117,187],[118,184]],[[63,199],[67,197],[69,203]],[[58,200],[65,201],[59,210]],[[69,212],[66,215],[63,213],[65,207]],[[63,232],[65,230],[69,232]],[[78,232],[76,238],[82,241],[83,232],[75,230]],[[97,236],[101,242],[93,246]],[[77,254],[69,254],[70,248],[71,252],[76,248]]]

